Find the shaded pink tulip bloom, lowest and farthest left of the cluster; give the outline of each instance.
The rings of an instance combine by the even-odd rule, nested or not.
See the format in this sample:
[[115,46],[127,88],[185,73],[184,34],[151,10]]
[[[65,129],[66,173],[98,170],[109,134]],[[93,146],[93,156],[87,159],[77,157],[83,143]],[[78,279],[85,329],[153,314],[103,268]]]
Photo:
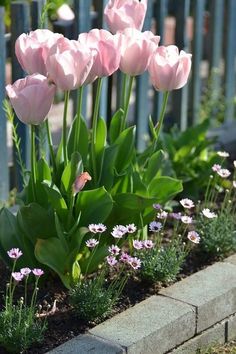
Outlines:
[[38,125],[46,119],[56,87],[45,76],[33,74],[7,85],[6,91],[17,117],[25,124]]

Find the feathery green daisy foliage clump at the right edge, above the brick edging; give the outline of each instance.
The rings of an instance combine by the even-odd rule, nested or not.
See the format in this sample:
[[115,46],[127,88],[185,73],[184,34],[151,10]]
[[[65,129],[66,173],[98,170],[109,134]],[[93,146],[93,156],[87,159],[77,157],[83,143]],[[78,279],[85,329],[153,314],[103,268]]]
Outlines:
[[218,217],[207,219],[199,216],[197,230],[201,236],[200,250],[211,258],[224,258],[236,250],[235,215],[221,212]]

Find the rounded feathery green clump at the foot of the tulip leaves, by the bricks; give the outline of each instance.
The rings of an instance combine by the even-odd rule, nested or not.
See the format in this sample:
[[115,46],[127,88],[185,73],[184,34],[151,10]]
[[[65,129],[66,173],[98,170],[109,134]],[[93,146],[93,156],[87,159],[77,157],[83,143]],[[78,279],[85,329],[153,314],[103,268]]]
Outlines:
[[71,304],[78,317],[85,321],[108,316],[117,299],[117,288],[105,287],[103,277],[85,279],[70,291]]

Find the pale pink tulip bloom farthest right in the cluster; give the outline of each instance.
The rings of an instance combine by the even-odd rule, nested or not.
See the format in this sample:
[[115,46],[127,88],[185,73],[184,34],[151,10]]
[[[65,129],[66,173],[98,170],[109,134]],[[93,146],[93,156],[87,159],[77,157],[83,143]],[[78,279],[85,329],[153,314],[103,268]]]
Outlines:
[[191,69],[191,54],[176,46],[161,46],[153,54],[149,73],[153,86],[158,91],[172,91],[183,87]]

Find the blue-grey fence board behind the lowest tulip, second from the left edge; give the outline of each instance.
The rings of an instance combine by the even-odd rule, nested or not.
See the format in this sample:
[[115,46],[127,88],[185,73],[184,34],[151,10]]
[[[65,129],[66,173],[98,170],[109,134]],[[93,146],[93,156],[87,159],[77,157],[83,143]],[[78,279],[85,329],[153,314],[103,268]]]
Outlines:
[[[15,55],[15,41],[17,37],[23,33],[28,32],[30,28],[29,24],[29,4],[23,1],[16,1],[11,3],[11,18],[14,19],[11,23],[11,57],[12,57],[12,82],[21,79],[25,76],[25,72],[21,68]],[[29,130],[28,127],[17,121],[17,133],[21,138],[22,158],[26,166],[29,166]],[[17,161],[14,154],[14,165],[16,166],[16,179],[17,187],[22,188],[22,178],[18,168]]]

